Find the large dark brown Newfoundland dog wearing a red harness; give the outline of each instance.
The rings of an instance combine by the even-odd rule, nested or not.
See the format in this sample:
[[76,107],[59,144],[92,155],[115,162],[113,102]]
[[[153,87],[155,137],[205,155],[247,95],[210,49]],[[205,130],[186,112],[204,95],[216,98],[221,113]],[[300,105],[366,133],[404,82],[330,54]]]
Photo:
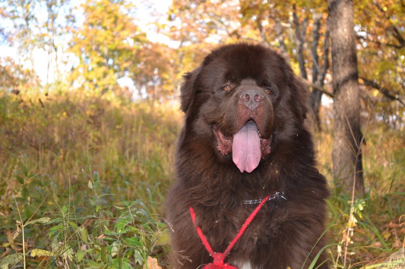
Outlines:
[[167,201],[175,268],[307,268],[325,246],[329,192],[304,127],[307,94],[261,45],[221,46],[184,76]]

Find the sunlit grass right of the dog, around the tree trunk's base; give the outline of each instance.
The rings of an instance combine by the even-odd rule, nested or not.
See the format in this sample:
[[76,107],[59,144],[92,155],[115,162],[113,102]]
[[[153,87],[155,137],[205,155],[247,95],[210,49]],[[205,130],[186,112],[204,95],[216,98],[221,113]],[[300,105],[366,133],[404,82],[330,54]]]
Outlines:
[[332,244],[348,242],[349,246],[328,249],[337,268],[367,268],[405,244],[405,137],[378,122],[366,125],[363,133],[366,195],[354,200],[352,212],[351,196],[333,181],[331,126],[314,135],[319,170],[327,177],[332,193],[327,234]]

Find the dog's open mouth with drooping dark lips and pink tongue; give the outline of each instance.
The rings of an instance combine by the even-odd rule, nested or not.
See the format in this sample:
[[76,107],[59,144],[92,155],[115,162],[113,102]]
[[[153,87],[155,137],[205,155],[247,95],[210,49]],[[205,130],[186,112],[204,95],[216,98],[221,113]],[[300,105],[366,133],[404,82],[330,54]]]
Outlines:
[[232,160],[240,173],[251,173],[260,163],[260,159],[270,153],[269,138],[263,138],[254,120],[249,120],[239,131],[226,136],[218,125],[213,126],[217,138],[217,147],[222,155],[232,153]]

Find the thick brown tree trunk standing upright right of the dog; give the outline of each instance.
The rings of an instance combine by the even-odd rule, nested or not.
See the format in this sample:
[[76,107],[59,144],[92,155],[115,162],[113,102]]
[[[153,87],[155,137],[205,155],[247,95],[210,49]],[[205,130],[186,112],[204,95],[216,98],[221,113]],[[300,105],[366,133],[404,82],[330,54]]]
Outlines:
[[[351,0],[328,0],[334,91],[333,172],[343,190],[364,193],[361,166],[360,96]],[[353,180],[355,181],[353,183]]]

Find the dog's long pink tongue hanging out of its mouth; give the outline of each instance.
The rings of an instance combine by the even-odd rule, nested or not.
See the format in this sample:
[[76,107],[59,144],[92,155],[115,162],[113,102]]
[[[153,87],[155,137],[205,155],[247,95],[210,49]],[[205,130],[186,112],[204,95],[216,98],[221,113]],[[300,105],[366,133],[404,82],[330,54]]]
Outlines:
[[249,122],[233,136],[232,160],[240,173],[251,173],[259,165],[260,158],[259,132],[256,124]]

